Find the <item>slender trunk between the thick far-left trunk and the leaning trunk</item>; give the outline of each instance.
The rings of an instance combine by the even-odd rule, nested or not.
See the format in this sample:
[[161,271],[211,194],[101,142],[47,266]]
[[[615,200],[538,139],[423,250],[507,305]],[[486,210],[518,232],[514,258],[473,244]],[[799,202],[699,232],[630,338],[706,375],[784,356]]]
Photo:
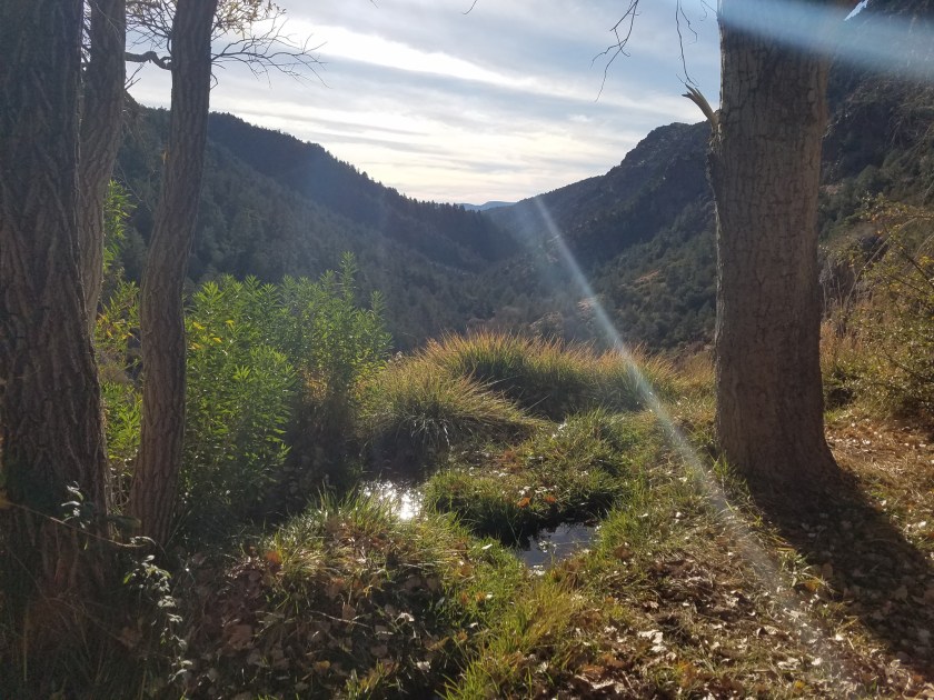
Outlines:
[[81,108],[78,208],[81,279],[91,334],[103,277],[103,207],[120,146],[126,40],[126,0],[91,2],[91,49],[85,69]]

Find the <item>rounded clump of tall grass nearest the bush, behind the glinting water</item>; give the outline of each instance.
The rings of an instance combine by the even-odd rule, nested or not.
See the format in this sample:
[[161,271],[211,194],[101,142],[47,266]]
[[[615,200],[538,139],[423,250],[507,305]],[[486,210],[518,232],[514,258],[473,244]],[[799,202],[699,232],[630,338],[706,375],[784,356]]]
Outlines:
[[424,358],[393,362],[371,382],[360,423],[371,452],[390,458],[475,438],[514,438],[535,426],[508,400]]

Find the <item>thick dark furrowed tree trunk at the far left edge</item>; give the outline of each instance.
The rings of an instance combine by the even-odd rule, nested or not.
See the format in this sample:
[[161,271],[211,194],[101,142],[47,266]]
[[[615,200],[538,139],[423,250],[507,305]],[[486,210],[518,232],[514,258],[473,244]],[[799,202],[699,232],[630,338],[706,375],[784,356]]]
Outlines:
[[0,556],[11,556],[0,567],[23,574],[27,600],[36,586],[48,604],[100,576],[74,531],[48,516],[74,500],[71,484],[105,514],[78,268],[81,4],[0,0],[0,488],[16,503],[0,510]]

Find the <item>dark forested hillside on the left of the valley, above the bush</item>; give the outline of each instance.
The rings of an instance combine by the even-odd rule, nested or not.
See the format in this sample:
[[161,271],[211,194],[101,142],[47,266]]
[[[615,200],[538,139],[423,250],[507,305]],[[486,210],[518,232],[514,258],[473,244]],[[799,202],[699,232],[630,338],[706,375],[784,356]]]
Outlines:
[[[130,279],[142,271],[167,123],[166,112],[137,109],[120,152],[117,177],[136,207],[121,253]],[[470,280],[509,239],[481,214],[405,198],[318,146],[228,114],[212,114],[209,129],[193,282],[316,278],[350,251],[362,292],[384,292],[400,349],[463,327],[484,307]]]

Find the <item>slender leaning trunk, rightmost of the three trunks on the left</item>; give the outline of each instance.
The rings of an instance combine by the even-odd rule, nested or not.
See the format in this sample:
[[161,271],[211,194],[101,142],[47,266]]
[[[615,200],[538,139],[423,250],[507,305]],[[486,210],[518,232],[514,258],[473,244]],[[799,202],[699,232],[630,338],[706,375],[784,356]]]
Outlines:
[[217,0],[187,0],[176,9],[169,142],[140,301],[142,442],[130,511],[160,544],[171,534],[185,437],[182,288],[201,191],[216,8]]

